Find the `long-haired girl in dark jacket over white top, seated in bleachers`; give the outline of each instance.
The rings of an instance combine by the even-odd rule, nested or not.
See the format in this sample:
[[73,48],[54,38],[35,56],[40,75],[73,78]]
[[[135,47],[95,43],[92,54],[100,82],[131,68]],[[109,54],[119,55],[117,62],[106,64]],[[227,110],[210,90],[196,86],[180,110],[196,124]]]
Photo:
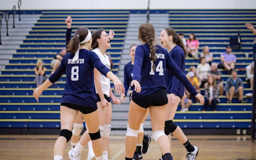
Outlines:
[[214,111],[217,111],[218,88],[215,82],[215,78],[210,76],[207,85],[205,85],[205,104],[203,104],[203,111],[206,111],[208,106],[212,106]]

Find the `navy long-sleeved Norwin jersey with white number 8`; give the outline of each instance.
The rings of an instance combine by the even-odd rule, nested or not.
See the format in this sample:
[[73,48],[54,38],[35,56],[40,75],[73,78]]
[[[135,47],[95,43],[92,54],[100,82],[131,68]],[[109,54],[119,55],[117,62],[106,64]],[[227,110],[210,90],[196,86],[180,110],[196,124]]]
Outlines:
[[79,59],[74,63],[72,63],[73,57],[74,54],[67,53],[58,70],[49,77],[49,81],[55,83],[66,71],[66,85],[61,103],[96,107],[94,68],[105,76],[110,69],[101,63],[96,53],[86,49],[79,50]]

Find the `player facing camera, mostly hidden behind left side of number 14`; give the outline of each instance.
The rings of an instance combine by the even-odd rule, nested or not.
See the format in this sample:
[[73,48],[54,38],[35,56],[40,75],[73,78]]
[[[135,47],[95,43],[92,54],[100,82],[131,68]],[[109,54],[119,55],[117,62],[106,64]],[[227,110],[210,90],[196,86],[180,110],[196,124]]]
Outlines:
[[[138,46],[138,44],[131,44],[130,46],[130,56],[131,56],[131,62],[125,64],[125,69],[124,69],[124,83],[123,85],[125,86],[125,93],[121,94],[121,100],[125,102],[125,96],[128,92],[128,89],[130,88],[131,81],[133,79],[133,66],[134,66],[134,58],[135,58],[135,49]],[[132,93],[133,87],[131,87],[130,91],[130,101],[131,101],[131,93]],[[149,150],[149,144],[151,142],[151,138],[148,135],[144,134],[144,129],[143,129],[143,123],[148,116],[149,109],[147,110],[147,113],[145,114],[143,121],[140,124],[140,133],[138,133],[138,139],[137,139],[137,147],[133,156],[133,159],[138,160],[138,159],[143,159],[142,153],[146,154]],[[142,148],[142,153],[141,153],[141,146],[143,144]]]

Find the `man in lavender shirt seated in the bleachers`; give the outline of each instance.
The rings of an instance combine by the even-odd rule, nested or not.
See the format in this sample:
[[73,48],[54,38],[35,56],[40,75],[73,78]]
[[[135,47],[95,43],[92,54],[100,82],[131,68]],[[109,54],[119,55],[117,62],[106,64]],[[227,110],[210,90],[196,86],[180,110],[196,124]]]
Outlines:
[[235,69],[235,62],[237,61],[234,54],[232,54],[231,46],[227,45],[226,52],[220,55],[220,67],[227,69],[229,74]]

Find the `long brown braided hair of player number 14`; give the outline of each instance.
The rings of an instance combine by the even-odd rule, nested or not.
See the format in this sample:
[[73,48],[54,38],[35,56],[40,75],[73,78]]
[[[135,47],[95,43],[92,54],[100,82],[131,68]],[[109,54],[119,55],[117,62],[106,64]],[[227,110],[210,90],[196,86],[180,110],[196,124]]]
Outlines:
[[155,42],[155,28],[152,24],[149,23],[144,23],[141,24],[139,27],[139,35],[140,39],[148,46],[150,47],[150,58],[151,61],[154,62],[153,64],[153,70],[155,69],[155,61],[156,61],[156,51],[155,51],[155,46],[153,43]]

